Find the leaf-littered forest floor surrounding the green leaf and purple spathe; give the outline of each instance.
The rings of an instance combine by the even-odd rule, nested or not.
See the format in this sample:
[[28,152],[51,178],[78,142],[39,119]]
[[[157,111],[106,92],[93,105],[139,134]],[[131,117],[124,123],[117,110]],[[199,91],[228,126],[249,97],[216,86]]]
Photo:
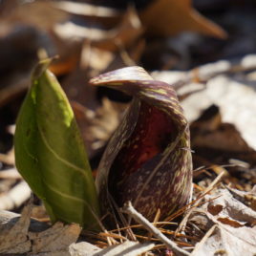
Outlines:
[[[0,1],[1,255],[255,255],[256,5],[97,2]],[[174,85],[190,124],[192,203],[165,222],[100,233],[50,224],[15,168],[13,134],[33,67],[56,55],[50,70],[71,102],[94,177],[131,97],[89,79],[137,65]]]

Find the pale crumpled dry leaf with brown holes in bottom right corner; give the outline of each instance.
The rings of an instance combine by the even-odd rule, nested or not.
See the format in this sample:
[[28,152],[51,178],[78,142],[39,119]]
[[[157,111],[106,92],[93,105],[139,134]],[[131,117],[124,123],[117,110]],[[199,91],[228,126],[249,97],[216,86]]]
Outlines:
[[[256,212],[236,200],[227,189],[205,197],[207,203],[193,210],[189,222],[208,230],[192,255],[255,255]],[[210,228],[211,226],[211,228]]]

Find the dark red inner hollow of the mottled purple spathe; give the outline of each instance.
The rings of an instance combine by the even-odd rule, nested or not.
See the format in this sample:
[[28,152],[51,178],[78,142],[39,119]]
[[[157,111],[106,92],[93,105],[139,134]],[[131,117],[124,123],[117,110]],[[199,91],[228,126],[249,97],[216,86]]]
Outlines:
[[[151,125],[153,122],[155,125]],[[176,126],[167,115],[141,102],[133,134],[124,141],[116,160],[112,163],[110,180],[116,184],[113,189],[121,185],[122,181],[137,171],[145,161],[160,154],[176,134]]]

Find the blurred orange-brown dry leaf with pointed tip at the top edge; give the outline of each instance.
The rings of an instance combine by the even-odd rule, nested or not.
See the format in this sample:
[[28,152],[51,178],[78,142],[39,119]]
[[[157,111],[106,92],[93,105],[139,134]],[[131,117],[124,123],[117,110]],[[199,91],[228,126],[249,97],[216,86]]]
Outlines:
[[182,31],[195,31],[218,38],[226,37],[226,32],[220,26],[191,7],[190,0],[152,1],[139,13],[139,17],[150,35],[168,36]]

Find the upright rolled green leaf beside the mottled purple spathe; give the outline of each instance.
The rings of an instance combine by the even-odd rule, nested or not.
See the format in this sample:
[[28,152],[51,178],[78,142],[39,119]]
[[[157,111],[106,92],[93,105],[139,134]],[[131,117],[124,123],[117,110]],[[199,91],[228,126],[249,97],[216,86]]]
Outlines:
[[91,227],[99,216],[95,182],[74,113],[51,60],[38,64],[16,122],[16,166],[53,222]]

